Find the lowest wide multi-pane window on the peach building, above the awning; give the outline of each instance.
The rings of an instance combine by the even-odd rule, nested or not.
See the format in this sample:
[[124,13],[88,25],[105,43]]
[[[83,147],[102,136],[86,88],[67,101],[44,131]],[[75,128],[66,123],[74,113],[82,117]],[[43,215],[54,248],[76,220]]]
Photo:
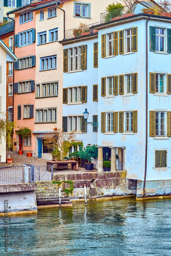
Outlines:
[[56,108],[38,109],[36,110],[36,122],[56,122],[57,110]]

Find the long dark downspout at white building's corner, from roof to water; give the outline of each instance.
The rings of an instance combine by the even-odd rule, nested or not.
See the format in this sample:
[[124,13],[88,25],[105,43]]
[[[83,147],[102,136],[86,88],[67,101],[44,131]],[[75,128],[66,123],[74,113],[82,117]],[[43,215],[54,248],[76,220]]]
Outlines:
[[146,104],[145,104],[145,172],[144,172],[144,185],[143,185],[143,196],[145,196],[145,182],[146,182],[146,166],[147,166],[147,145],[148,145],[148,18],[146,20]]

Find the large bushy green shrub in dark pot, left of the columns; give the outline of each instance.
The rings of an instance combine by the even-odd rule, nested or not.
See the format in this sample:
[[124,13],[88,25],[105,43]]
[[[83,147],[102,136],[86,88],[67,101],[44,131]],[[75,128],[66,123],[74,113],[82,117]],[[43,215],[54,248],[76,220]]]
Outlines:
[[98,157],[98,147],[96,145],[90,145],[88,144],[86,147],[80,147],[79,151],[79,157],[81,159],[86,159],[89,161],[89,163],[85,163],[85,169],[86,170],[92,170],[93,169],[93,158],[96,159]]

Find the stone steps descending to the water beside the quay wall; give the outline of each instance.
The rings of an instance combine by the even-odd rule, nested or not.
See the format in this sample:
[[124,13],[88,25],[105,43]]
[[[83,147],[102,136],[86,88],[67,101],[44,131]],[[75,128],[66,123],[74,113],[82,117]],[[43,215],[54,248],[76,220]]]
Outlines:
[[[36,201],[38,205],[59,204],[59,185],[52,181],[36,181]],[[61,190],[61,205],[72,204],[67,194]]]

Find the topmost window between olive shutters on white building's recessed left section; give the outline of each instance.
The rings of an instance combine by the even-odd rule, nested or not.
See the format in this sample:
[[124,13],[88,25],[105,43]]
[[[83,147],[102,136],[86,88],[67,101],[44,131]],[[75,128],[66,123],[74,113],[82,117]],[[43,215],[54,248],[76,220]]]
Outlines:
[[81,69],[81,47],[69,49],[69,71]]

